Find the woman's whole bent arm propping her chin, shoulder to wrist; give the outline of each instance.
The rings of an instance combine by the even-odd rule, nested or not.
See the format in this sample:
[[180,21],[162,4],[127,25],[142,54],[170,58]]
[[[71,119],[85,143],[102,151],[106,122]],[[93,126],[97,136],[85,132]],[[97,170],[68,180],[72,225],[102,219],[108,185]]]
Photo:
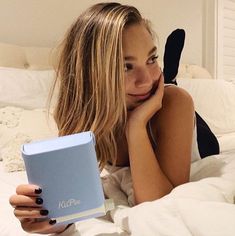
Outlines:
[[162,108],[151,119],[156,152],[148,137],[147,119],[143,117],[150,114],[149,104],[148,109],[138,107],[131,114],[126,132],[136,203],[158,199],[189,180],[194,120],[191,97],[177,87],[165,89]]

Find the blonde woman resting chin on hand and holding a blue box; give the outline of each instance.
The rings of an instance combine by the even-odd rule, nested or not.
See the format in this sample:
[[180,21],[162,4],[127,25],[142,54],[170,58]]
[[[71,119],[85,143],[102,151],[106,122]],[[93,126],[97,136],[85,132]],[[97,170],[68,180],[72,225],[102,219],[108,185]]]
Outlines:
[[[69,29],[56,80],[59,135],[92,130],[101,169],[130,166],[136,204],[189,181],[193,102],[163,81],[154,35],[136,8],[96,4]],[[30,233],[64,231],[47,218],[41,191],[18,186],[15,216]]]

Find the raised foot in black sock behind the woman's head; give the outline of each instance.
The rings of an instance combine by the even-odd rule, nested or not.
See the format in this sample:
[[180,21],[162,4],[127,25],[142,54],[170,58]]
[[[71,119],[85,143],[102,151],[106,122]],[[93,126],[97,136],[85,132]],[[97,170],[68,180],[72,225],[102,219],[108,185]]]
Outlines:
[[163,57],[165,83],[177,85],[175,77],[178,74],[179,61],[184,47],[184,41],[185,31],[183,29],[174,30],[167,38]]

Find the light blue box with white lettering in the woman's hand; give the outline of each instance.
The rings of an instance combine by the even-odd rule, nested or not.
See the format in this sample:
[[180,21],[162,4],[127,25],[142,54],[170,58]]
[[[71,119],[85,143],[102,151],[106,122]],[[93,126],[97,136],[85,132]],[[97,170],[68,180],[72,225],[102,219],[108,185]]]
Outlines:
[[106,214],[91,131],[24,144],[22,156],[49,218],[69,224]]

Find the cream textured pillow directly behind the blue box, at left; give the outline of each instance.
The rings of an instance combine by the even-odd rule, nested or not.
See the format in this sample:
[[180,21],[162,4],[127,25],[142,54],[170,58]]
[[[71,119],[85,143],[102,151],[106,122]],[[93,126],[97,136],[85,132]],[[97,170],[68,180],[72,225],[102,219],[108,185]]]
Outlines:
[[21,158],[23,143],[56,137],[58,130],[46,109],[18,107],[0,109],[0,156],[6,171],[24,170]]

